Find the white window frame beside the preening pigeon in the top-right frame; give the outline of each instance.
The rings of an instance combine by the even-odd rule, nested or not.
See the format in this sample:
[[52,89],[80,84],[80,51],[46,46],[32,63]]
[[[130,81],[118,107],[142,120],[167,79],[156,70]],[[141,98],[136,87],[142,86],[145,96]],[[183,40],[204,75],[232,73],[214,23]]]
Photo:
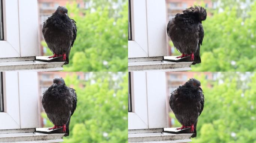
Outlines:
[[131,0],[128,58],[167,55],[165,0]]

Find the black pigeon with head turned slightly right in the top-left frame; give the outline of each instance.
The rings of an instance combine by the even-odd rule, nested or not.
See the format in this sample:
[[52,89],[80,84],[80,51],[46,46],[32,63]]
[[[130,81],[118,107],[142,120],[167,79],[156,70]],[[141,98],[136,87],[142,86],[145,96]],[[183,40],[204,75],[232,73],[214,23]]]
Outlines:
[[54,54],[49,58],[63,56],[68,64],[70,49],[76,40],[76,22],[67,15],[67,8],[59,6],[57,10],[43,22],[43,37],[49,49]]

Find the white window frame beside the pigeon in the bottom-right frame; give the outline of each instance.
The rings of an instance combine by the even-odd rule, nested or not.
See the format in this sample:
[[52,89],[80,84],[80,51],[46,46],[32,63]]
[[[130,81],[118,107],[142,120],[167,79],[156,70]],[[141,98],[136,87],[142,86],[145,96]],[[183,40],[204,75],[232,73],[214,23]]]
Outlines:
[[131,72],[128,130],[167,127],[165,72]]

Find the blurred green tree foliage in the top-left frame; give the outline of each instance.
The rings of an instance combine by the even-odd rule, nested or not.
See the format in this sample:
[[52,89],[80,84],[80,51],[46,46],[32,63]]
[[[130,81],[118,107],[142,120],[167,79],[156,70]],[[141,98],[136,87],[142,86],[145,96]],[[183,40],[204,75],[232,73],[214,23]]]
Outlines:
[[73,2],[66,7],[76,21],[77,37],[64,70],[127,71],[128,3],[115,16],[110,6],[81,10]]

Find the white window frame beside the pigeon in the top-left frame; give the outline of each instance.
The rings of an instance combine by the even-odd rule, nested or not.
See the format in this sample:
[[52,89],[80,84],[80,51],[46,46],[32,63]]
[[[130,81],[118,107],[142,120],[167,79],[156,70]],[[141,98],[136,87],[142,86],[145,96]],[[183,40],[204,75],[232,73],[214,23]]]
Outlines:
[[3,0],[4,41],[0,58],[39,55],[36,0]]

